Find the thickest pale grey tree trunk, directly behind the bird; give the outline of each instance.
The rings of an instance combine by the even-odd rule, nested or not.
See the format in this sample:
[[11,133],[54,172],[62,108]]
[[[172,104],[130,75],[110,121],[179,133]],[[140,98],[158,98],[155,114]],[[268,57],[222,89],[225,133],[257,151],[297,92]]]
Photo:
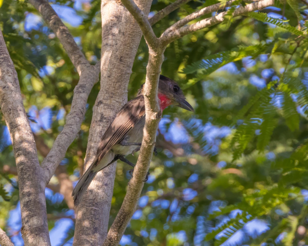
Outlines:
[[[147,16],[151,2],[140,0],[136,3]],[[142,36],[138,24],[120,1],[102,1],[101,15],[101,89],[93,109],[85,169],[93,161],[103,133],[127,102],[128,81]],[[99,172],[83,196],[76,216],[74,246],[103,244],[114,178],[115,164]]]

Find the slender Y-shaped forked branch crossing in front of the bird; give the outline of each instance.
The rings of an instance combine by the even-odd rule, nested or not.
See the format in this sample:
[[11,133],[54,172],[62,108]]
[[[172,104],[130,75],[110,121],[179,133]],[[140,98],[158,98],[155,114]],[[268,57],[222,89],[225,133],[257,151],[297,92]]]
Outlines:
[[[156,132],[158,128],[158,122],[161,117],[161,111],[158,106],[157,89],[161,65],[164,61],[164,50],[166,46],[173,40],[180,38],[186,34],[192,33],[197,30],[201,30],[205,27],[212,26],[219,22],[224,21],[224,16],[227,11],[218,14],[217,16],[207,18],[190,26],[184,26],[191,20],[200,17],[203,14],[209,13],[209,11],[217,11],[224,8],[224,6],[214,5],[207,7],[203,10],[197,11],[192,15],[184,18],[182,21],[177,22],[176,29],[169,29],[164,32],[160,38],[156,38],[152,27],[142,11],[138,8],[133,0],[121,0],[124,6],[127,7],[132,16],[140,25],[140,29],[144,34],[145,40],[149,45],[149,61],[147,66],[147,76],[144,85],[144,103],[146,109],[146,122],[144,126],[144,135],[142,139],[142,146],[138,157],[137,164],[134,168],[134,175],[128,183],[127,193],[125,195],[123,204],[117,214],[115,221],[111,225],[111,228],[107,234],[107,238],[104,241],[103,246],[118,245],[124,231],[131,219],[133,213],[136,210],[136,206],[144,185],[144,177],[146,176],[150,162],[152,159],[152,152],[156,141]],[[227,2],[231,5],[234,1]],[[274,4],[274,0],[261,0],[259,2],[253,2],[245,7],[239,7],[233,12],[233,16],[239,16],[251,11],[260,10],[264,7]]]

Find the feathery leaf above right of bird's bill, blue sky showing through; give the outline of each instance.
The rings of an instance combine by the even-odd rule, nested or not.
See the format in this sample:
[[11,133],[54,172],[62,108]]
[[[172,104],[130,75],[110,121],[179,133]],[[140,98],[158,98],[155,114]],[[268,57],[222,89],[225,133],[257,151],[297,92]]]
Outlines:
[[255,58],[264,52],[267,46],[268,44],[262,42],[259,45],[238,46],[230,51],[222,51],[217,54],[209,55],[206,59],[188,65],[183,69],[183,73],[188,74],[202,70],[203,75],[209,75],[230,62],[241,60],[247,56]]

